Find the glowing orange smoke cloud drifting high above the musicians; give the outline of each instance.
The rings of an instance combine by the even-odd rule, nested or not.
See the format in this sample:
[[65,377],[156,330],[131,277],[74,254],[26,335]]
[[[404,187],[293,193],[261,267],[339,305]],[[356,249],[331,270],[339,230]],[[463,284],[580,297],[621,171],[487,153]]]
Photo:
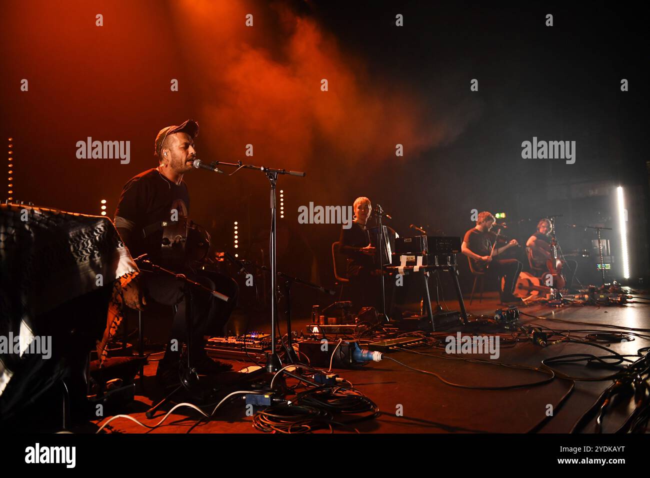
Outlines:
[[[413,157],[450,135],[434,126],[431,112],[405,85],[371,77],[362,60],[311,18],[278,5],[172,6],[188,74],[199,87],[197,119],[210,132],[201,141],[224,157],[246,159],[250,143],[265,165],[301,168],[323,145],[337,159],[356,162],[395,158],[398,143]],[[247,14],[252,27],[245,25]]]

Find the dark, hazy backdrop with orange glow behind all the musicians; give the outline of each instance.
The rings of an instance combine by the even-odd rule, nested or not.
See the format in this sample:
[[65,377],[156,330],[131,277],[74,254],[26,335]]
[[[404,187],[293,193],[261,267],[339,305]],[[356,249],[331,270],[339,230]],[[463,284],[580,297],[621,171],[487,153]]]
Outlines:
[[[103,14],[97,27],[96,14]],[[253,14],[253,27],[244,25]],[[554,26],[545,26],[545,15]],[[395,15],[404,26],[395,26]],[[411,223],[447,235],[471,209],[504,212],[525,243],[562,214],[565,252],[603,225],[622,276],[616,187],[625,191],[630,281],[649,271],[647,31],[632,8],[603,2],[24,1],[3,5],[0,101],[12,137],[14,200],[109,217],[122,185],[155,167],[164,126],[198,120],[203,161],[304,170],[284,176],[279,270],[333,284],[340,226],[298,224],[298,206],[379,202],[401,235]],[[21,92],[21,79],[29,91]],[[170,91],[178,79],[179,91]],[[320,91],[326,78],[328,92]],[[478,92],[470,91],[478,79]],[[621,79],[629,91],[621,92]],[[131,163],[77,159],[76,142],[130,140]],[[577,159],[522,159],[521,142],[575,140]],[[395,145],[404,145],[404,157]],[[253,144],[253,157],[244,155]],[[231,171],[231,170],[229,170]],[[268,181],[185,176],[192,219],[214,250],[265,260]],[[6,193],[1,183],[0,194]],[[233,221],[240,248],[233,248]],[[471,287],[460,258],[461,285]],[[597,283],[595,263],[581,265]],[[330,299],[298,294],[298,312]]]

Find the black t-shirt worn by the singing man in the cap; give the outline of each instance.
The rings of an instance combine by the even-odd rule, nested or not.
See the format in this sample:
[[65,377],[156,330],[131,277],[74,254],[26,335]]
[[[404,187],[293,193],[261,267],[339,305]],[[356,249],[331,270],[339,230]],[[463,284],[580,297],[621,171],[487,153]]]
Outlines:
[[189,213],[190,196],[184,181],[176,185],[157,168],[129,179],[122,189],[115,216],[133,223],[127,244],[131,256],[158,254],[162,241],[161,222],[172,219],[172,209],[177,211],[179,218]]

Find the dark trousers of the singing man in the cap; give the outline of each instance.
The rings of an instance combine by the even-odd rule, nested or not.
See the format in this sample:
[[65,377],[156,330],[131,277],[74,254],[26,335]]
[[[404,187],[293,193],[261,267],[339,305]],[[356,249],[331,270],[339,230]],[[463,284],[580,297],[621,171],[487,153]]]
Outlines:
[[[205,354],[205,335],[221,335],[230,313],[237,305],[239,286],[237,282],[218,272],[213,271],[184,271],[188,279],[194,280],[211,290],[229,297],[229,300],[217,299],[212,294],[190,286],[188,291],[191,298],[190,312],[192,317],[192,350],[190,354]],[[148,300],[155,300],[166,306],[177,305],[174,323],[164,354],[164,361],[177,360],[180,356],[181,343],[188,341],[187,317],[185,315],[185,281],[161,272],[142,271],[142,283]],[[172,340],[177,341],[177,350],[172,351]]]

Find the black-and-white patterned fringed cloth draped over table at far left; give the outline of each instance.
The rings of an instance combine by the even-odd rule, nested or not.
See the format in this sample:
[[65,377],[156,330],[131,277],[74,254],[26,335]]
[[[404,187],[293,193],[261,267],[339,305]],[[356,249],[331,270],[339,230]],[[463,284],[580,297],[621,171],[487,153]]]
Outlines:
[[0,336],[20,338],[19,354],[0,351],[0,396],[14,372],[23,368],[19,361],[26,359],[34,337],[51,330],[39,317],[110,287],[103,317],[87,317],[89,324],[105,321],[103,337],[96,337],[100,360],[105,357],[105,346],[122,320],[123,287],[138,272],[106,217],[0,204]]

